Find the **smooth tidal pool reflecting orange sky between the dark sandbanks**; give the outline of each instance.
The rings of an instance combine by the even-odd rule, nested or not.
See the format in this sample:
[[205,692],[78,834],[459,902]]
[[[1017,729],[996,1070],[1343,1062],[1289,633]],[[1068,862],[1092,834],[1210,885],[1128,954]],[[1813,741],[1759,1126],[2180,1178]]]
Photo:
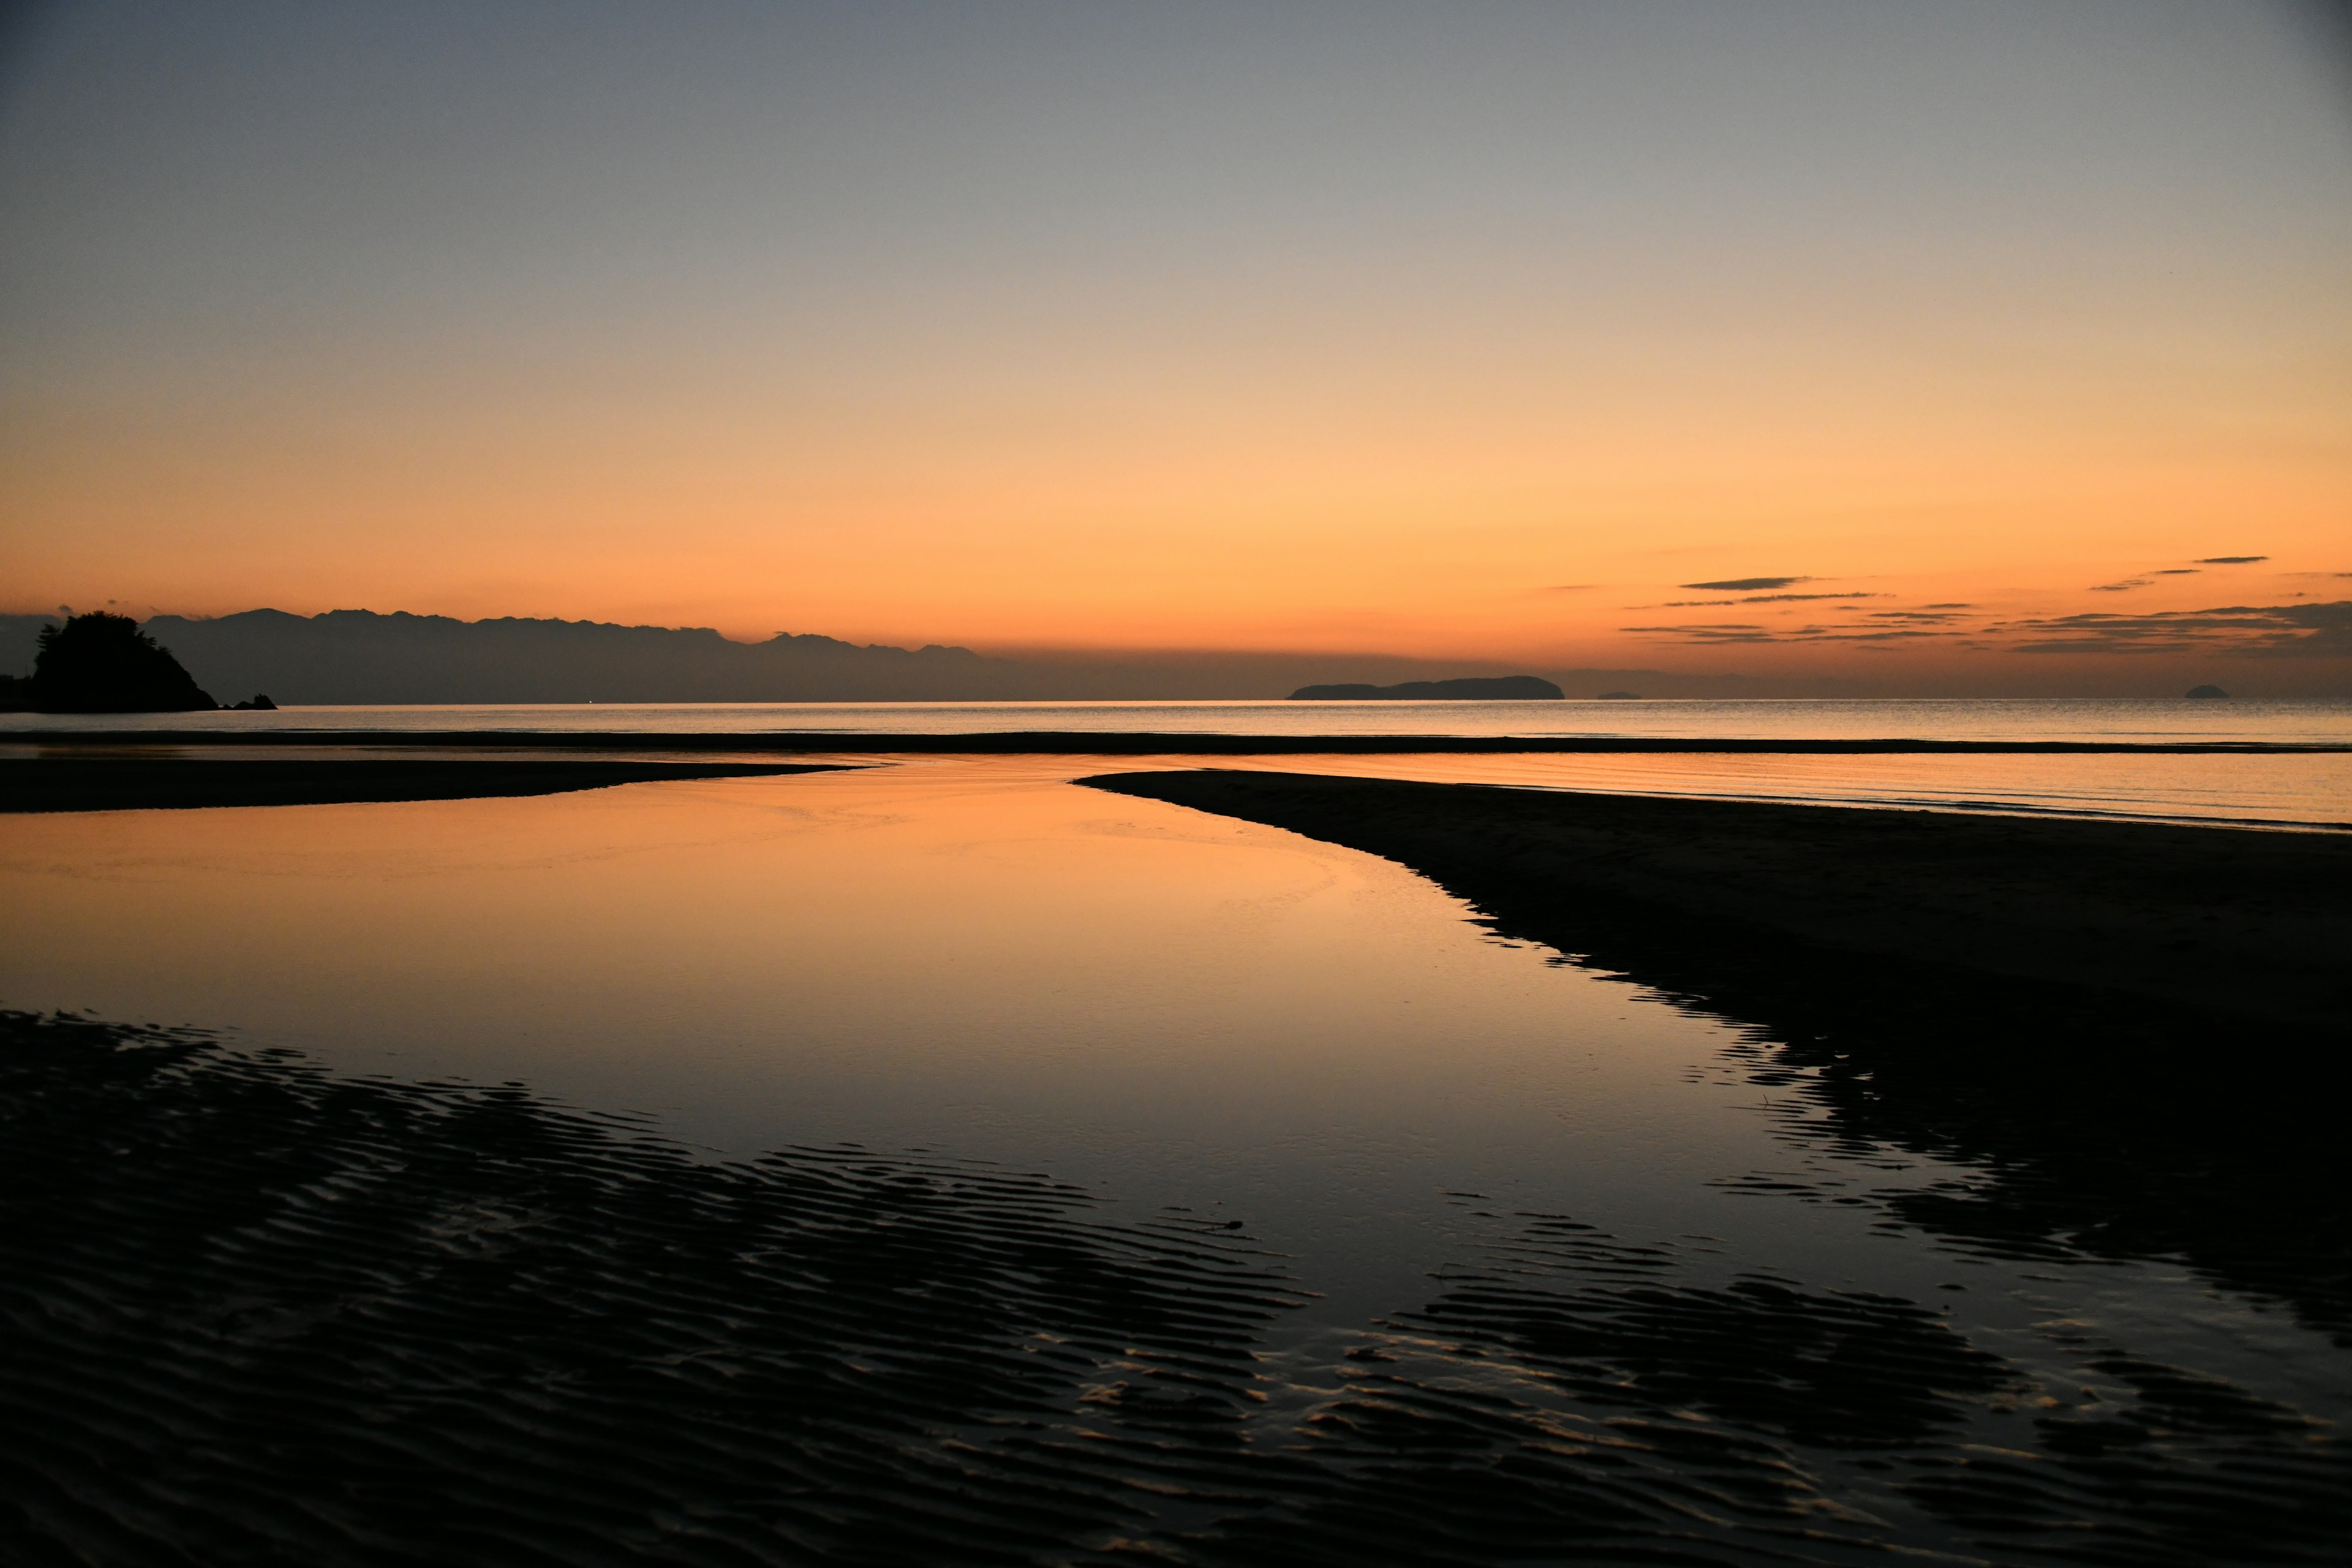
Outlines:
[[[0,1001],[520,1079],[727,1154],[927,1150],[1080,1182],[1112,1218],[1237,1218],[1319,1293],[1265,1338],[1277,1425],[1341,1399],[1350,1347],[1432,1387],[1606,1401],[1548,1382],[1543,1338],[1477,1284],[1498,1267],[1632,1347],[1837,1312],[1943,1345],[1950,1324],[2006,1368],[1945,1368],[1938,1420],[1992,1448],[2126,1408],[2140,1366],[2352,1413],[2340,1352],[2178,1262],[1889,1225],[1886,1190],[1980,1173],[1811,1133],[1804,1074],[1755,1072],[1736,1030],[1496,943],[1388,863],[1056,780],[1073,771],[1091,769],[9,818]],[[1795,1295],[1759,1305],[1755,1274]],[[1658,1321],[1649,1288],[1670,1291]],[[1399,1316],[1449,1300],[1486,1354]],[[1851,1458],[1816,1455],[1818,1476],[1884,1521],[1863,1535],[1938,1535]]]

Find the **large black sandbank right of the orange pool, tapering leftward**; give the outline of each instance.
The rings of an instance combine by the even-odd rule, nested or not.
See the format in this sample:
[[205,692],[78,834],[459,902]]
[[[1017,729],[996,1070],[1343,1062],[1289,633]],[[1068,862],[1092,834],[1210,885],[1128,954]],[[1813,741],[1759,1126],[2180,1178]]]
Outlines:
[[1964,1255],[2180,1260],[2352,1347],[2352,839],[1301,773],[1080,783],[1395,860],[1496,940],[1726,1025],[1724,1060],[1795,1143],[1976,1173],[1872,1194],[1891,1227]]

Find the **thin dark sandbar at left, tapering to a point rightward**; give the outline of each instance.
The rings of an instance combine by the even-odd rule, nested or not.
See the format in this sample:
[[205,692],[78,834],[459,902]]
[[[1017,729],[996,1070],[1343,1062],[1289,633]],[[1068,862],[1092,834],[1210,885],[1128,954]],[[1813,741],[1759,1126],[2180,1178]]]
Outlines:
[[0,811],[327,806],[386,799],[562,795],[621,783],[816,773],[807,762],[35,757],[0,762]]

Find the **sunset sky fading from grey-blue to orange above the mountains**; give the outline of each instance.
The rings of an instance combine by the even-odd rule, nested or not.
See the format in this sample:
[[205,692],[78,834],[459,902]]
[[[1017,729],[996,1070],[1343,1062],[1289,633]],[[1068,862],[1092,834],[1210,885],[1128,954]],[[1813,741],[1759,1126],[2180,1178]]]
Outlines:
[[2352,693],[2352,26],[33,5],[0,609]]

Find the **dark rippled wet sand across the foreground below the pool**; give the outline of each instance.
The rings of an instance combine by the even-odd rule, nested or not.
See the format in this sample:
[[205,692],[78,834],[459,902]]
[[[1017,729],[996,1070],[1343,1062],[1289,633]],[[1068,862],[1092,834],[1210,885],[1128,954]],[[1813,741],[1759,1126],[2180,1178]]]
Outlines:
[[[0,1016],[24,1563],[2340,1561],[2352,1455],[2084,1328],[1494,1215],[1268,1354],[1237,1225],[863,1150],[696,1161],[522,1088]],[[1477,1208],[1477,1194],[1458,1194]],[[2065,1340],[2065,1326],[2058,1326]],[[1940,1561],[1955,1561],[1952,1556]]]

